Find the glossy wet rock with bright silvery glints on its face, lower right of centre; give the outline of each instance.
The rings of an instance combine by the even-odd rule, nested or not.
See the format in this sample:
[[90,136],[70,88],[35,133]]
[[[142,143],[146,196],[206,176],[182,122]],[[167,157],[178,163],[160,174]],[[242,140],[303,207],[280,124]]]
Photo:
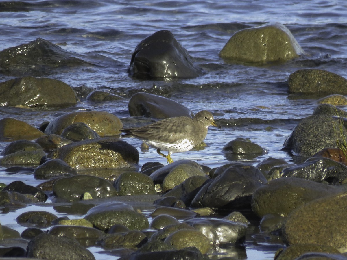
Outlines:
[[247,226],[219,218],[193,218],[185,223],[204,234],[215,246],[236,243],[245,237]]

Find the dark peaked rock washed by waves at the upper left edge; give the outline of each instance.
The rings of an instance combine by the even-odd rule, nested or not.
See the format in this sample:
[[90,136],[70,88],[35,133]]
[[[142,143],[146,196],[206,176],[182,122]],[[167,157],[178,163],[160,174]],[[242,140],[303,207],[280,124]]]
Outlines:
[[76,54],[37,38],[0,52],[0,70],[9,75],[44,75],[59,67],[86,64]]

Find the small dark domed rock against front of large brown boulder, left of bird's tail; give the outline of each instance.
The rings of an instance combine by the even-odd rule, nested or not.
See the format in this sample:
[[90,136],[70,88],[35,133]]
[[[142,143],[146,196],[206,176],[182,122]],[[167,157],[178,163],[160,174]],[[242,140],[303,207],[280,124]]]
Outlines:
[[61,136],[74,142],[99,138],[98,133],[82,122],[68,125],[62,131]]

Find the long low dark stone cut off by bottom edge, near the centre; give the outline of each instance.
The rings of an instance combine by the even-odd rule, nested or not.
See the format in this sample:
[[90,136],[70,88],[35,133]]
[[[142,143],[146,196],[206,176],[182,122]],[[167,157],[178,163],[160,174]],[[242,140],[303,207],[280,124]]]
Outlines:
[[130,256],[121,257],[119,260],[143,260],[143,259],[155,259],[155,260],[208,260],[207,256],[201,254],[198,250],[183,249],[183,250],[168,250],[159,252],[144,252],[134,253]]

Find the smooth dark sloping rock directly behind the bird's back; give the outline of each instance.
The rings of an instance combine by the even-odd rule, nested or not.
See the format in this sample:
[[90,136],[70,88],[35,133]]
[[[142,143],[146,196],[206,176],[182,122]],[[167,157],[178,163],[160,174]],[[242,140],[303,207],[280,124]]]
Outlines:
[[193,117],[194,113],[188,107],[166,97],[150,93],[136,93],[128,103],[130,116],[145,116],[146,118],[172,118],[177,116]]

